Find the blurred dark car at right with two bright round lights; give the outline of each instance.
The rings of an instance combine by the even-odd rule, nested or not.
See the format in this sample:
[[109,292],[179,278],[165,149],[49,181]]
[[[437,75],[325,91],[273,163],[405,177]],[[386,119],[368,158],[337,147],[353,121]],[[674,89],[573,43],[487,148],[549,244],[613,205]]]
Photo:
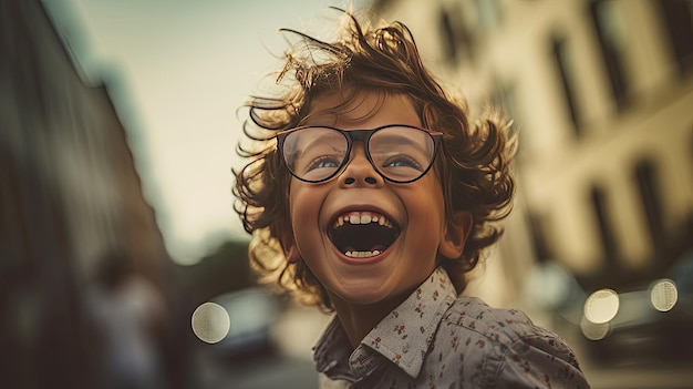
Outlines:
[[580,329],[600,361],[693,357],[693,250],[665,278],[628,291],[592,293]]

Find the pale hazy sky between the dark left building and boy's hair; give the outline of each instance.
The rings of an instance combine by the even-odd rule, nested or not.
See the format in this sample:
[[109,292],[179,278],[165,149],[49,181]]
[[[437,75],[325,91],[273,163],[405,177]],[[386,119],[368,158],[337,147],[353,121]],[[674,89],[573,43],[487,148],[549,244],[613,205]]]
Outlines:
[[[172,257],[246,238],[230,194],[237,109],[286,49],[345,0],[44,0],[89,79],[106,79]],[[355,1],[356,4],[366,1]],[[56,18],[58,19],[58,18]],[[333,25],[333,24],[327,24]],[[271,52],[271,53],[270,53]],[[107,70],[107,73],[104,73]],[[114,84],[108,73],[117,76]],[[241,116],[242,119],[242,116]]]

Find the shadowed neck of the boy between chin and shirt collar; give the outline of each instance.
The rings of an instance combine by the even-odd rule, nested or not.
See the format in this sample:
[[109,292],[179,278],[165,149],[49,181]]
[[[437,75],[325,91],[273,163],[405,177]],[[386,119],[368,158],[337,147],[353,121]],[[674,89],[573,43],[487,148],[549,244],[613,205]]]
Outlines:
[[330,298],[349,342],[355,349],[373,327],[402,304],[410,294],[411,290],[397,298],[365,305],[352,304],[332,294]]

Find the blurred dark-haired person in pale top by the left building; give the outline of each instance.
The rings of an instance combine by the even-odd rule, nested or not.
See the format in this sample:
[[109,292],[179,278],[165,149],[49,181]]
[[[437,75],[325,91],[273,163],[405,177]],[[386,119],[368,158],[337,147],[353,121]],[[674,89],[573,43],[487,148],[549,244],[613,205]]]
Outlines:
[[103,387],[168,388],[162,355],[165,300],[134,272],[125,250],[116,248],[101,258],[86,298],[100,338]]

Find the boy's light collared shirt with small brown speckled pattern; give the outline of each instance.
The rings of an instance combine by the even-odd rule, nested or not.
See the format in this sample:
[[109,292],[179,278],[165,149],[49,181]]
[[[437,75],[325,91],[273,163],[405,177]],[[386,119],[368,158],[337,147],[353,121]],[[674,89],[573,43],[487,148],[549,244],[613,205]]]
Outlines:
[[333,318],[313,357],[321,388],[589,388],[560,337],[519,310],[457,297],[442,268],[355,350]]

